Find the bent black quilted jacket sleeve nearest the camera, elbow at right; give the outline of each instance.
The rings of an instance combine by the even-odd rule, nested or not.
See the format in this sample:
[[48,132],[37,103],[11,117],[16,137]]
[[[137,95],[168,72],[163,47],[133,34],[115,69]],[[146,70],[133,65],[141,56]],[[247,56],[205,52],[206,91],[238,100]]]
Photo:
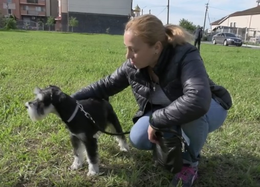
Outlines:
[[150,116],[149,122],[154,129],[188,123],[202,117],[209,110],[211,91],[199,51],[190,47],[182,59],[181,82],[184,94]]

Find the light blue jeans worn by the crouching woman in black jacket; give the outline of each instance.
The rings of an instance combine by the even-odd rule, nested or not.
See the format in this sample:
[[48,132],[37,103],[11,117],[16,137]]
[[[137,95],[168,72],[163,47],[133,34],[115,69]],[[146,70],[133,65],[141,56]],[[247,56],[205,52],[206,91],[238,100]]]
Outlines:
[[[147,112],[138,119],[131,129],[129,141],[136,149],[151,150],[153,147],[153,143],[148,140],[147,134],[150,115],[151,111]],[[209,111],[204,116],[181,126],[183,132],[190,139],[189,148],[193,155],[200,155],[208,134],[219,129],[226,117],[227,110],[221,107],[214,99],[211,99]],[[198,161],[192,161],[188,152],[183,154],[183,163],[188,163],[191,167],[197,167],[198,165]]]

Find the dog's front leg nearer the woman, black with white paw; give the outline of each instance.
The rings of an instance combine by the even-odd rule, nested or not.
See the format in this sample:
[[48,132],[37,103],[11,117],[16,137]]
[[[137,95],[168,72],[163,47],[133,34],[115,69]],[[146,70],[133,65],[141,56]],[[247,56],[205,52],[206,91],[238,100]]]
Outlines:
[[88,155],[89,172],[88,176],[97,175],[99,173],[99,155],[97,138],[90,137],[84,142],[86,154]]

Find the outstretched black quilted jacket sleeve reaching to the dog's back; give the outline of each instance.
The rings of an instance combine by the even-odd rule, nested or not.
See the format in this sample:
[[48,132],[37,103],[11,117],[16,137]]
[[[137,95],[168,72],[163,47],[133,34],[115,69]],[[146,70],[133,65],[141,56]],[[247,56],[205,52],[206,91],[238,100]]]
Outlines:
[[71,96],[77,100],[87,99],[90,97],[109,99],[129,86],[126,75],[127,61],[123,63],[111,75],[102,78],[93,84],[86,86]]

